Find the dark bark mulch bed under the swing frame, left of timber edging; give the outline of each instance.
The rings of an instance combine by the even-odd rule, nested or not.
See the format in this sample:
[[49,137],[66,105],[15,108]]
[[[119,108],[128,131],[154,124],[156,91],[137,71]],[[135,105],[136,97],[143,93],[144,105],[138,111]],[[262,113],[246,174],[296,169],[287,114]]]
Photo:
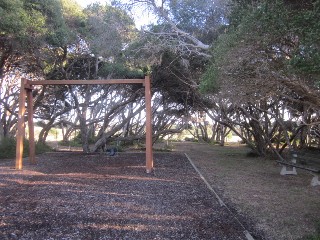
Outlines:
[[246,239],[181,153],[47,153],[0,165],[0,239]]

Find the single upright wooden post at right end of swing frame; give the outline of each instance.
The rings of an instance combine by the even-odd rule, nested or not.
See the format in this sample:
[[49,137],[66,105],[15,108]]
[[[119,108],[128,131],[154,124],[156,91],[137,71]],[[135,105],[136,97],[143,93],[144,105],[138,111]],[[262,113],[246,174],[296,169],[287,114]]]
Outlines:
[[145,99],[146,99],[146,171],[151,173],[153,169],[153,154],[152,154],[152,109],[151,109],[151,81],[150,77],[145,77],[144,82]]

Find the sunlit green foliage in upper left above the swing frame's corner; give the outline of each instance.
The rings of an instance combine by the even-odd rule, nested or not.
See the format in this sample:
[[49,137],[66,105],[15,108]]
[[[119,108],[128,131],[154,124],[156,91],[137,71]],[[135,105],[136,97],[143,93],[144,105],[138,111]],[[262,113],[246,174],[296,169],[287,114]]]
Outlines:
[[60,66],[56,49],[77,39],[69,26],[60,0],[0,0],[0,74],[41,76]]

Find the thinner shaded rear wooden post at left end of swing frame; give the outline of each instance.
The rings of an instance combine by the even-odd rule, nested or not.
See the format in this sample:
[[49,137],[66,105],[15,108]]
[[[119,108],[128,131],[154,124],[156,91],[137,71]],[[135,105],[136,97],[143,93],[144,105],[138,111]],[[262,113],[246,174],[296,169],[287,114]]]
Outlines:
[[32,87],[27,89],[27,108],[28,108],[28,128],[29,128],[29,162],[36,164],[36,149],[34,143],[34,124],[33,124],[33,96]]

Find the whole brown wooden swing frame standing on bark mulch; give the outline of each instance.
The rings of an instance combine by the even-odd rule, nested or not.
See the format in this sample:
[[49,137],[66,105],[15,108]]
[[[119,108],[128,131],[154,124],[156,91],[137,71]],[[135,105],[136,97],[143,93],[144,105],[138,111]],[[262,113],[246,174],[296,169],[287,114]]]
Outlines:
[[151,111],[151,80],[149,76],[144,79],[108,79],[108,80],[42,80],[30,81],[21,79],[19,95],[19,113],[17,125],[17,146],[15,168],[21,170],[23,167],[23,139],[25,136],[25,112],[27,98],[27,113],[29,127],[29,162],[36,164],[35,141],[34,141],[34,123],[33,123],[33,96],[32,90],[35,85],[104,85],[104,84],[143,84],[145,88],[146,101],[146,172],[151,173],[153,169],[152,153],[152,111]]

